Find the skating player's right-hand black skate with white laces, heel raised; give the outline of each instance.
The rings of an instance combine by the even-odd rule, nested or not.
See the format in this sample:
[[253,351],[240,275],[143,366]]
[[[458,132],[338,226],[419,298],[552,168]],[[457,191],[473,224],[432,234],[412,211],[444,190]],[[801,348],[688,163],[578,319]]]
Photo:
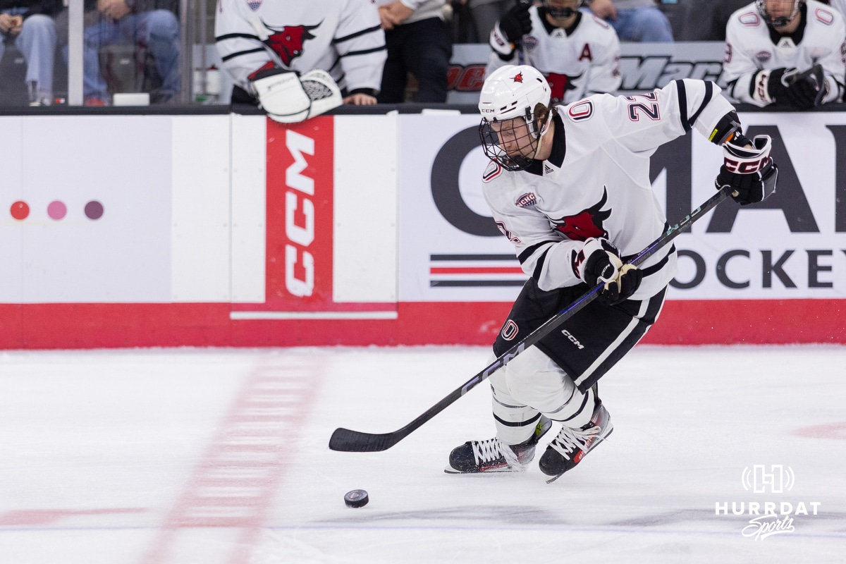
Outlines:
[[585,454],[591,452],[596,445],[604,441],[614,430],[611,423],[611,416],[608,414],[602,400],[596,399],[596,407],[593,408],[591,422],[580,429],[573,429],[564,425],[558,435],[552,439],[543,453],[538,466],[541,472],[552,476],[547,479],[551,484],[568,470],[572,470],[576,464],[581,462]]

